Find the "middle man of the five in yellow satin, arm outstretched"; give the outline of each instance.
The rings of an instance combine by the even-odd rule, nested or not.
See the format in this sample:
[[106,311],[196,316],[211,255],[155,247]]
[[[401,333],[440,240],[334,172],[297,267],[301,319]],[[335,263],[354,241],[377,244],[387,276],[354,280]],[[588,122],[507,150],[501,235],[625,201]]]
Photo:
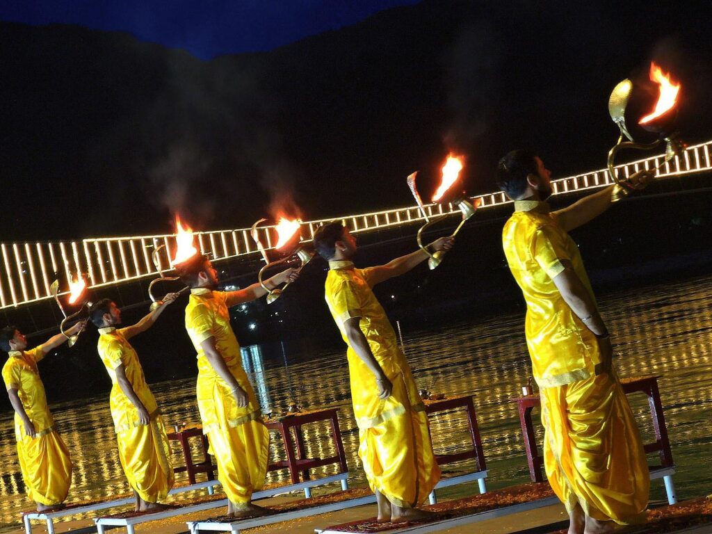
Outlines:
[[[234,517],[263,513],[251,503],[267,473],[269,431],[260,404],[242,367],[240,345],[230,325],[228,309],[256,300],[267,291],[258,283],[236,291],[218,291],[217,271],[203,255],[176,266],[191,288],[185,328],[198,355],[197,397],[203,432],[218,465],[218,480]],[[295,281],[288,268],[265,284],[269,288]]]

